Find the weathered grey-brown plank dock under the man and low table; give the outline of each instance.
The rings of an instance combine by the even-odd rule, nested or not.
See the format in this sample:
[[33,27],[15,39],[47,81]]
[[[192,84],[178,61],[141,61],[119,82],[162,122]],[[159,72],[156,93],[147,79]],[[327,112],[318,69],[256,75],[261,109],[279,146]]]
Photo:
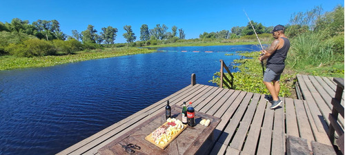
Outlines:
[[[302,85],[299,83],[299,86]],[[332,93],[330,89],[326,91]],[[195,84],[184,87],[59,154],[98,154],[99,148],[162,112],[167,100],[170,105],[192,101],[195,110],[221,118],[213,131],[215,141],[209,150],[210,154],[286,154],[286,138],[289,135],[306,139],[309,150],[312,150],[312,141],[331,145],[326,134],[328,123],[322,118],[328,111],[323,112],[315,103],[309,103],[308,98],[281,98],[281,107],[270,110],[270,103],[264,100],[264,94]],[[328,103],[325,106],[328,107]]]

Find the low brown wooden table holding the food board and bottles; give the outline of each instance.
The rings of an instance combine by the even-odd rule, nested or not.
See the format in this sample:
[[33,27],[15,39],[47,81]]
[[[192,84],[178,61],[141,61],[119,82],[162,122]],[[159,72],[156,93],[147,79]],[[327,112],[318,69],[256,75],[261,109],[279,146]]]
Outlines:
[[[171,112],[173,118],[181,121],[182,107],[172,105]],[[201,119],[210,119],[210,125],[208,127],[200,125],[199,122]],[[220,121],[221,119],[215,116],[195,112],[195,123],[197,125],[195,127],[188,126],[166,149],[161,149],[146,141],[145,137],[166,122],[165,110],[162,109],[159,114],[152,116],[148,121],[141,123],[138,127],[101,147],[98,152],[102,155],[127,154],[122,149],[122,145],[132,143],[141,147],[140,150],[134,149],[134,154],[208,154],[210,147],[213,146],[210,145],[210,143],[213,143],[213,130],[215,130],[215,127]],[[201,151],[198,152],[198,150]]]

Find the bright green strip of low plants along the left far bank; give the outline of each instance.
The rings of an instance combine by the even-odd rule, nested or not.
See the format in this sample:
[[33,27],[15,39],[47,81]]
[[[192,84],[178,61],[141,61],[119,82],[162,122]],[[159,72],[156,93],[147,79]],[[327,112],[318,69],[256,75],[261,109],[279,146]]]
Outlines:
[[115,56],[124,56],[132,54],[145,54],[155,52],[147,48],[104,48],[103,50],[90,50],[75,52],[62,56],[34,56],[34,57],[17,57],[17,56],[0,56],[0,70],[13,70],[19,68],[38,68],[64,63],[75,63],[78,61],[87,61],[91,59],[104,59]]

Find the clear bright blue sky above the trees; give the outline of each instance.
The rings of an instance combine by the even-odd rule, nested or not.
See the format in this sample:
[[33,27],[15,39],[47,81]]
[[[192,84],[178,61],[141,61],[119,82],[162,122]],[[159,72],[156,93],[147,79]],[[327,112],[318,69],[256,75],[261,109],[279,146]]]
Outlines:
[[294,12],[306,12],[315,6],[322,6],[330,12],[337,5],[344,6],[343,0],[293,0],[293,1],[210,1],[210,0],[175,0],[175,1],[138,1],[138,0],[16,0],[0,1],[0,21],[10,23],[13,18],[33,21],[56,19],[65,34],[72,30],[81,32],[88,25],[94,25],[98,32],[111,25],[117,28],[115,43],[124,43],[126,39],[124,25],[131,25],[140,37],[140,27],[147,24],[149,29],[156,24],[173,25],[182,28],[186,39],[199,38],[203,32],[230,30],[234,26],[245,26],[248,19],[265,26],[288,23]]

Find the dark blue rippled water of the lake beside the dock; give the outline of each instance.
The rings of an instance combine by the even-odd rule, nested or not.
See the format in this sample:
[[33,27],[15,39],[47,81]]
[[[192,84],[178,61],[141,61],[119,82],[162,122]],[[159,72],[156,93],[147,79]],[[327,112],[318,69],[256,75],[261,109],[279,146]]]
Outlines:
[[0,154],[56,154],[190,85],[192,73],[213,85],[219,59],[229,65],[240,57],[235,51],[248,49],[259,50],[159,48],[164,52],[0,71]]

